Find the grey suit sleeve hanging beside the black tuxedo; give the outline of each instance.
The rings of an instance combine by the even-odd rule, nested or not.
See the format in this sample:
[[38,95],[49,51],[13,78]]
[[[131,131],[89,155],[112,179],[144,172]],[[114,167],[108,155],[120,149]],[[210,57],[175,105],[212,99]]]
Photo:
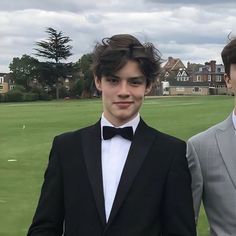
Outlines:
[[195,212],[195,221],[197,224],[203,193],[203,177],[200,162],[198,159],[198,153],[191,140],[188,140],[187,142],[187,160],[192,176],[193,205]]

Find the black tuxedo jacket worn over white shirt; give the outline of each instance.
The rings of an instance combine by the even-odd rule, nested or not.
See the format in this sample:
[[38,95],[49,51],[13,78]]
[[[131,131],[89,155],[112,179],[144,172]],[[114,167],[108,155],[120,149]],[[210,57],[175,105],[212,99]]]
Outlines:
[[97,124],[54,139],[28,236],[194,236],[185,142],[140,121],[108,222]]

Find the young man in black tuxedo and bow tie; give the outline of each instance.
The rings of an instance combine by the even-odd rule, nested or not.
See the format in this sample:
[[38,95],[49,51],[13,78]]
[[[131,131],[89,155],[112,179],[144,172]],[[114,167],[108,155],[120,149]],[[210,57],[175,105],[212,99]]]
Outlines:
[[131,35],[96,45],[101,120],[54,139],[29,236],[195,235],[186,145],[139,115],[159,70]]

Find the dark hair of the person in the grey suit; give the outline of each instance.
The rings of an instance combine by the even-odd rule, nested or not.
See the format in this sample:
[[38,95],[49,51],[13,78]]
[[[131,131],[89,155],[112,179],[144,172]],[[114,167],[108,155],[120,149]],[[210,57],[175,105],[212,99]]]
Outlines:
[[236,64],[236,38],[231,38],[230,42],[223,48],[221,58],[224,63],[225,73],[230,76],[230,65]]

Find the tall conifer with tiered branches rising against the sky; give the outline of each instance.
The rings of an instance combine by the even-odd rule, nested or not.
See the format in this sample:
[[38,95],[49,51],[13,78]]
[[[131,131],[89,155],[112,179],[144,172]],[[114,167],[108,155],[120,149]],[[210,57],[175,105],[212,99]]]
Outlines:
[[[61,60],[66,60],[72,55],[72,46],[68,43],[72,41],[68,36],[63,36],[61,31],[49,27],[45,31],[48,34],[47,40],[41,40],[36,42],[38,48],[35,48],[36,56],[44,57],[53,60],[51,70],[54,70],[52,74],[55,75],[54,81],[56,85],[56,97],[59,98],[59,85],[60,77],[63,77],[64,64],[60,63]],[[49,68],[49,66],[48,66]]]

